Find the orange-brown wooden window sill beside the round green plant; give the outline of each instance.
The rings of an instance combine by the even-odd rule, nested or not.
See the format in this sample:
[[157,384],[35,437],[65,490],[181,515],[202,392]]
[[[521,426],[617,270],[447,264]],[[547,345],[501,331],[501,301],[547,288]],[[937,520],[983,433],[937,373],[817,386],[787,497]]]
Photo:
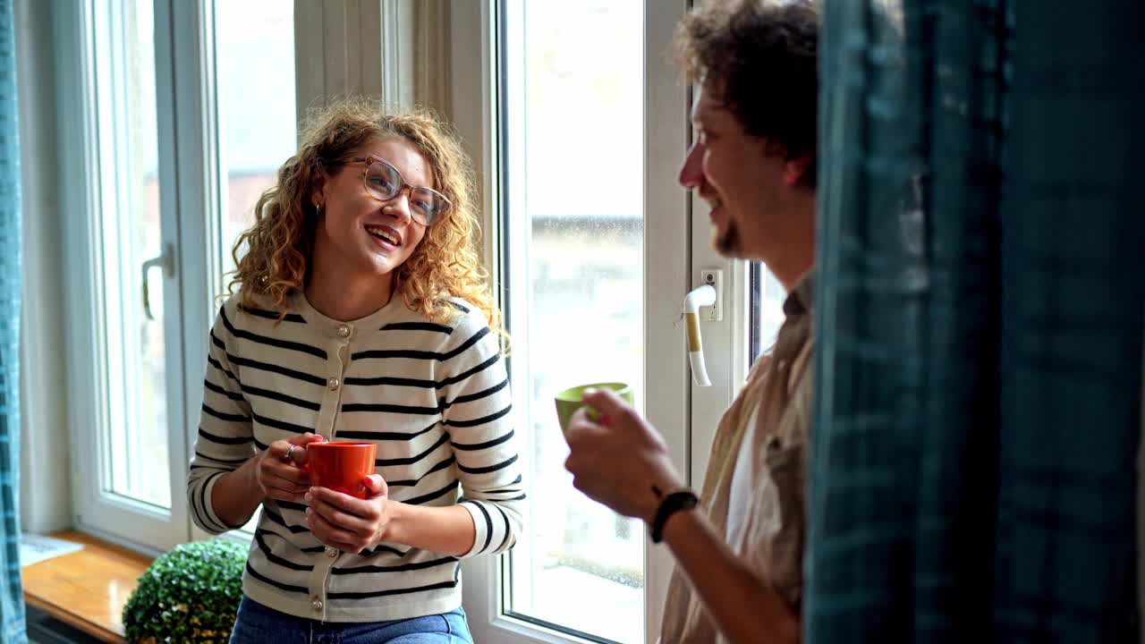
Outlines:
[[30,606],[103,642],[124,642],[124,605],[151,559],[78,532],[53,534],[84,549],[23,568]]

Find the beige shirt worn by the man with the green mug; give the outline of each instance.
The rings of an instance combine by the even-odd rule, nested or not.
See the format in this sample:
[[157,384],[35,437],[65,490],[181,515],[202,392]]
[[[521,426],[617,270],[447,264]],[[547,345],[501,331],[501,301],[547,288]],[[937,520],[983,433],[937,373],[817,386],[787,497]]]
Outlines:
[[[797,613],[812,414],[813,298],[814,274],[808,273],[783,303],[787,320],[774,350],[756,362],[720,419],[701,494],[709,519],[727,536],[732,550]],[[717,641],[722,638],[714,622],[677,567],[664,605],[662,644]]]

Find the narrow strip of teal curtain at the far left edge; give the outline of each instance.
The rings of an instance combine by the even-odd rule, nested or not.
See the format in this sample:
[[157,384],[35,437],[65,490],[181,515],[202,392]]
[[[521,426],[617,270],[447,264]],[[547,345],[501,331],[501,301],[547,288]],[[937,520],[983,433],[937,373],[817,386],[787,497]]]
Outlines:
[[11,0],[0,0],[0,642],[24,642],[19,582],[19,141]]

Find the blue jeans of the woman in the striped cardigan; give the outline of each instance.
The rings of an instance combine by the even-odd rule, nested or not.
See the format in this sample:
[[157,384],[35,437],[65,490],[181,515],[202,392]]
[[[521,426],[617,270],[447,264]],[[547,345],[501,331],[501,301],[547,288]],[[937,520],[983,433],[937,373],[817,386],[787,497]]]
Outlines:
[[473,644],[465,611],[374,622],[321,622],[295,618],[243,597],[231,644]]

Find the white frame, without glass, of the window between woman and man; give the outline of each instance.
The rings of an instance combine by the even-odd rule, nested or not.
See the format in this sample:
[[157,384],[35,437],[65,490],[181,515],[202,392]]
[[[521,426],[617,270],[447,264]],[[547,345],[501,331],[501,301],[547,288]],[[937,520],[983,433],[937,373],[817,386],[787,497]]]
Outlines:
[[[496,168],[502,156],[496,88],[502,62],[493,50],[498,2],[453,0],[450,7],[450,116],[469,144],[480,178],[484,259],[495,276],[504,267],[504,254],[515,252],[507,248],[510,239],[504,238],[498,220],[502,196]],[[645,2],[645,346],[657,347],[646,351],[645,384],[649,392],[673,401],[649,407],[648,419],[664,435],[677,469],[689,485],[698,487],[716,424],[747,372],[750,300],[747,262],[721,258],[711,249],[706,206],[677,184],[679,164],[690,143],[690,92],[664,54],[670,52],[672,33],[688,6],[687,0]],[[701,268],[721,268],[726,276],[724,321],[702,324],[711,387],[692,384],[680,324],[684,296],[700,285]],[[503,307],[511,304],[504,292],[498,294]],[[514,341],[521,340],[514,331]],[[585,642],[505,614],[503,560],[477,557],[463,566],[464,602],[475,641]],[[666,548],[650,542],[646,545],[645,634],[649,643],[660,635],[672,566]]]

